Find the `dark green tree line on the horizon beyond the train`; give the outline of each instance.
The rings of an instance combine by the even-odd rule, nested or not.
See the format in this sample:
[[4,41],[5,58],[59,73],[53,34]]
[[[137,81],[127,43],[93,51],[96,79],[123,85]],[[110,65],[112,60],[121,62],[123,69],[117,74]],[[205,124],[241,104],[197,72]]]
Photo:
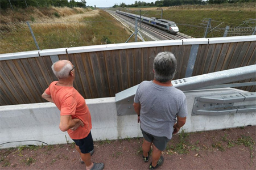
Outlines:
[[179,6],[179,5],[206,5],[206,4],[221,4],[221,3],[243,3],[243,2],[256,2],[256,0],[161,0],[155,2],[135,1],[134,4],[126,5],[124,2],[115,4],[113,7],[164,7],[164,6]]

